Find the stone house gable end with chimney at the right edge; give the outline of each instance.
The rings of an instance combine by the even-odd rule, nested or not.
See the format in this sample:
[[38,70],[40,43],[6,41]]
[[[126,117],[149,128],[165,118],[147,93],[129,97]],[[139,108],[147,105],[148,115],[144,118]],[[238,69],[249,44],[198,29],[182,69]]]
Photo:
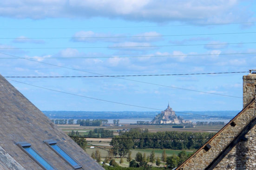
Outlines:
[[256,70],[243,76],[243,110],[176,170],[256,170]]

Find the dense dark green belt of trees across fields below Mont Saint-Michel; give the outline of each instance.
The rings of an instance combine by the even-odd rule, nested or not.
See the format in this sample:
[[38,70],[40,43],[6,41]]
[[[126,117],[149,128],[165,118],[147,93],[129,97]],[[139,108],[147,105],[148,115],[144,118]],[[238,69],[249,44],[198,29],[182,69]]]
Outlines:
[[199,149],[214,134],[176,131],[154,133],[148,129],[131,129],[129,132],[119,132],[119,136],[112,138],[110,145],[122,156],[131,148]]

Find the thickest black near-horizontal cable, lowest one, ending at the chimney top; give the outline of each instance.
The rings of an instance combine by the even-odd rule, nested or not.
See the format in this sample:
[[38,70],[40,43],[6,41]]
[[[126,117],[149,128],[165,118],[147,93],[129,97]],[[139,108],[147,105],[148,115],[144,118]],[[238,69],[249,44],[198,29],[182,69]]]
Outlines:
[[131,77],[131,76],[184,76],[184,75],[216,75],[249,73],[249,71],[215,72],[215,73],[186,73],[186,74],[160,74],[160,75],[116,75],[116,76],[4,76],[5,78],[79,78],[79,77]]

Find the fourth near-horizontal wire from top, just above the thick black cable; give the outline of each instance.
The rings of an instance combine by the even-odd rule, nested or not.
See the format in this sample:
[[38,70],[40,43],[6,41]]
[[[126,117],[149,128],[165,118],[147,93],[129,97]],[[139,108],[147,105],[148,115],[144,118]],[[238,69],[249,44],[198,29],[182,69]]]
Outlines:
[[[1,53],[4,54],[4,53]],[[116,57],[0,57],[0,59],[66,59],[66,58],[137,58],[137,57],[186,57],[186,56],[216,56],[216,55],[241,55],[241,54],[256,54],[256,52],[243,52],[243,53],[220,53],[220,54],[184,54],[184,55],[161,55],[161,56],[116,56]]]

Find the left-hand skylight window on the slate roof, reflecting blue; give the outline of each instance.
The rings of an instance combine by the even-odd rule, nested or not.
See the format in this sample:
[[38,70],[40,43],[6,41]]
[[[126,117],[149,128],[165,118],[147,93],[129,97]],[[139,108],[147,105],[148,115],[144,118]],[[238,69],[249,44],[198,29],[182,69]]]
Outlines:
[[33,148],[31,148],[31,144],[26,142],[19,142],[17,145],[44,170],[55,170],[52,165],[47,163],[43,157],[41,157],[36,151],[33,150]]

